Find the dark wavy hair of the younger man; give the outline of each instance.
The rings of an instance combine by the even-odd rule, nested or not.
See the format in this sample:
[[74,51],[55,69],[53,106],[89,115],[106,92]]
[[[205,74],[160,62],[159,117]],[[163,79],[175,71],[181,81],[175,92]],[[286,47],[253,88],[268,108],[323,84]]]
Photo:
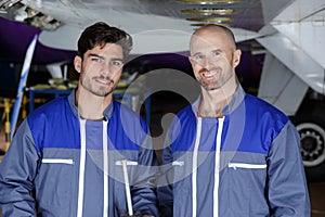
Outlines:
[[104,47],[106,43],[119,44],[123,50],[126,59],[132,49],[132,37],[125,30],[106,23],[98,22],[87,27],[78,40],[78,55],[83,59],[83,54],[95,46]]

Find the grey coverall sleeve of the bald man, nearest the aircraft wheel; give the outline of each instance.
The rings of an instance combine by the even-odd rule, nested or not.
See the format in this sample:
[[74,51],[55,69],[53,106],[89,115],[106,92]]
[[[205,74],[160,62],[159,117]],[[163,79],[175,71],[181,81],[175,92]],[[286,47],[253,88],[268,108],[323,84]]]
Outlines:
[[299,135],[290,122],[272,142],[268,158],[271,216],[310,216],[299,142]]

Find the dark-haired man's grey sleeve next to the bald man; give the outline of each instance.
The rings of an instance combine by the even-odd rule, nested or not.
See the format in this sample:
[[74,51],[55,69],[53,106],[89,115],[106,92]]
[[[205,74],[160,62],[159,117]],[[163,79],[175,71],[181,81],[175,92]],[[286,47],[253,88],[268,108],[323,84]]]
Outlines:
[[142,215],[158,217],[156,179],[158,177],[157,158],[152,140],[146,137],[139,150],[138,183],[131,189],[133,209]]

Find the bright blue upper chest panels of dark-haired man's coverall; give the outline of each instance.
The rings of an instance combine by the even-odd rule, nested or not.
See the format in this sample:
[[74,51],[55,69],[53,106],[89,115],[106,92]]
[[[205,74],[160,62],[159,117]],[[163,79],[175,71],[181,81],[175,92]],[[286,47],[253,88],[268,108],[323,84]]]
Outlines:
[[[119,102],[113,103],[114,111],[107,126],[108,149],[139,150],[147,136],[145,122]],[[80,149],[79,119],[72,112],[67,97],[38,107],[27,122],[38,152],[43,148]]]

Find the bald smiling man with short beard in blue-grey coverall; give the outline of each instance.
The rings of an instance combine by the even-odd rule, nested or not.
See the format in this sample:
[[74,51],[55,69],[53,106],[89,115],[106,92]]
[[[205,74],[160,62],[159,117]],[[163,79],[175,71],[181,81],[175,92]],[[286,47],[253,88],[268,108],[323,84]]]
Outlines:
[[298,132],[281,111],[240,87],[242,52],[232,31],[203,26],[190,50],[202,94],[166,136],[161,216],[310,216]]

